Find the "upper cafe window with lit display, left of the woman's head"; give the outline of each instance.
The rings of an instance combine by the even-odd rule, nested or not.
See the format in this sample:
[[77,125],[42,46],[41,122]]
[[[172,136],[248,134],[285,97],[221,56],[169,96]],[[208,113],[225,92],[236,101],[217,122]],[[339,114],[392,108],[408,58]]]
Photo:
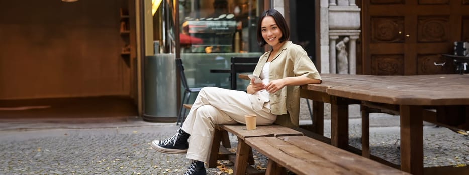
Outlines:
[[261,52],[262,0],[179,0],[181,53]]

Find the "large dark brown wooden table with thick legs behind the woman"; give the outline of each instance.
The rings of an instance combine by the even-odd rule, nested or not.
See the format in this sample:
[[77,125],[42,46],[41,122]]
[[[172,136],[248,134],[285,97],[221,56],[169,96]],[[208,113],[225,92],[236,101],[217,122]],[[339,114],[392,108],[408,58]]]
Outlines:
[[[423,174],[423,126],[429,109],[433,121],[465,121],[469,128],[469,75],[372,76],[321,74],[322,84],[301,88],[313,100],[314,132],[323,134],[324,102],[331,103],[331,144],[348,147],[348,105],[371,102],[398,109],[401,123],[401,170]],[[316,107],[315,107],[316,106]],[[319,107],[318,107],[319,106]],[[459,108],[463,112],[448,112]],[[448,115],[457,114],[457,116]],[[461,120],[462,118],[462,120]],[[444,123],[443,123],[444,124]],[[367,133],[363,133],[367,134]]]

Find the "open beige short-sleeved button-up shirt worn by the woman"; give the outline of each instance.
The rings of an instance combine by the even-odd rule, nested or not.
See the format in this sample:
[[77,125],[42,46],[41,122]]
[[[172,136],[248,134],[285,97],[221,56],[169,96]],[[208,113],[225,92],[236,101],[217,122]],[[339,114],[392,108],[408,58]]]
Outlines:
[[[254,69],[260,76],[271,51],[265,52]],[[290,41],[286,42],[270,63],[269,81],[285,77],[305,76],[321,80],[306,51]],[[322,81],[322,80],[321,80]],[[271,113],[278,115],[275,123],[284,126],[299,126],[300,117],[300,86],[285,86],[281,90],[270,93]]]

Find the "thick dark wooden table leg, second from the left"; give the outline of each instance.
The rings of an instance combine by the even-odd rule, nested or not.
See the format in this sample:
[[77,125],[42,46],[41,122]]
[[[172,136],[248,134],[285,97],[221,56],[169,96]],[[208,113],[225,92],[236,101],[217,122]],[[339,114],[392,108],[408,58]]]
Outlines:
[[348,103],[336,96],[331,96],[331,144],[348,148]]

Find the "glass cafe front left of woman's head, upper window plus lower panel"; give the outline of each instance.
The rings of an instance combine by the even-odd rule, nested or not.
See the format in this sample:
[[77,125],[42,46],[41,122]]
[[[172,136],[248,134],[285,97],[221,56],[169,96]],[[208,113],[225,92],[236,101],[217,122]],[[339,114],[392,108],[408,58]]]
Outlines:
[[[194,86],[229,88],[230,58],[260,56],[256,25],[262,0],[179,0],[180,53]],[[190,85],[191,85],[190,84]],[[241,83],[242,85],[242,83]]]

